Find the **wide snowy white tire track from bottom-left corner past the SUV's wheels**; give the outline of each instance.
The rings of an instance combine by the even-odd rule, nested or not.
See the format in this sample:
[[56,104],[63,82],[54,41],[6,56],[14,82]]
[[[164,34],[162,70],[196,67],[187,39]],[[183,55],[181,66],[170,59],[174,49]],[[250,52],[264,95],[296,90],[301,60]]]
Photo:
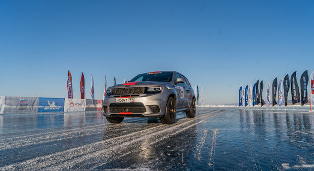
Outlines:
[[[217,113],[219,111],[214,111],[211,113]],[[202,119],[204,117],[209,117],[211,113],[203,114],[202,116],[197,117],[196,119]],[[202,121],[206,120],[203,119]],[[93,159],[97,162],[103,162],[103,160],[99,161],[100,157],[104,159],[109,159],[108,156],[114,155],[115,153],[123,148],[130,147],[130,144],[138,142],[148,137],[152,137],[154,135],[162,134],[167,131],[171,131],[175,128],[184,126],[190,122],[194,121],[194,119],[183,118],[180,119],[173,125],[159,125],[153,128],[133,132],[127,135],[122,135],[114,138],[110,138],[104,141],[95,142],[88,145],[83,145],[77,148],[68,149],[62,152],[57,152],[41,157],[36,157],[27,161],[23,161],[20,163],[11,164],[8,166],[3,166],[0,170],[41,170],[43,168],[51,167],[51,170],[64,170],[72,168],[76,164],[80,162],[84,162],[87,164],[87,159]],[[200,122],[202,122],[200,121]],[[162,129],[162,130],[160,130]],[[112,148],[108,146],[113,146]],[[106,147],[106,149],[103,149]],[[106,152],[106,153],[105,153]],[[107,154],[107,157],[104,156],[104,153]],[[62,165],[60,165],[63,163]],[[57,164],[58,166],[53,166]],[[67,168],[66,166],[69,166]]]

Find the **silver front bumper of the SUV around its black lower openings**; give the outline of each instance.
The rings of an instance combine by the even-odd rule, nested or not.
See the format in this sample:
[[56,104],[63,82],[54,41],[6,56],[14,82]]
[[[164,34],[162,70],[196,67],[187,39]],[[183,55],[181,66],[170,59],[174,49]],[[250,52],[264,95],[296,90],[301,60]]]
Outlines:
[[[103,106],[103,115],[106,117],[110,116],[122,116],[122,117],[162,117],[165,114],[166,104],[168,100],[168,92],[163,90],[161,93],[158,94],[150,94],[150,95],[139,95],[139,96],[132,96],[134,98],[134,103],[116,103],[116,98],[113,96],[105,96],[105,99],[102,103]],[[141,105],[142,104],[142,105]],[[123,107],[125,105],[125,107]],[[141,105],[141,108],[145,108],[144,113],[141,112],[129,112],[130,106]],[[114,106],[119,106],[123,108],[125,111],[120,112],[112,112]],[[154,112],[151,106],[158,106],[159,112]],[[111,109],[112,108],[112,109]]]

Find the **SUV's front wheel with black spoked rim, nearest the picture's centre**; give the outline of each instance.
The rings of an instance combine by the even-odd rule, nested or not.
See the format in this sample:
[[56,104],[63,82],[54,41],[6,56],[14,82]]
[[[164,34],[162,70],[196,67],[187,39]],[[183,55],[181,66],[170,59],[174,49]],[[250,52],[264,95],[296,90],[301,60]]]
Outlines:
[[167,106],[166,106],[166,111],[164,116],[160,117],[160,121],[163,124],[173,124],[176,121],[176,101],[174,98],[169,97]]

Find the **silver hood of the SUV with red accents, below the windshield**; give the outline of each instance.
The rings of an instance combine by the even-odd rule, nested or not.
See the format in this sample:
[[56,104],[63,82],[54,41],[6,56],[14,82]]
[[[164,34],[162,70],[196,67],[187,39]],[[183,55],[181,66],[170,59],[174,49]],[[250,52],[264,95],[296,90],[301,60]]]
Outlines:
[[128,82],[124,84],[117,84],[109,87],[108,89],[114,88],[126,88],[126,87],[153,87],[153,86],[163,86],[170,85],[171,82],[157,82],[157,81],[139,81],[139,82]]

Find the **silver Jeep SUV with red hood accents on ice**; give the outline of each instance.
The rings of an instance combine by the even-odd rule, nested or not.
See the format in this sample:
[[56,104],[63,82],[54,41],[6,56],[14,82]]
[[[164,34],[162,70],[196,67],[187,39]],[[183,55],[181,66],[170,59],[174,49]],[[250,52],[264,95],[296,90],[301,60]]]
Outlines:
[[159,117],[172,124],[178,112],[195,117],[195,95],[187,78],[174,71],[148,72],[130,82],[109,87],[102,103],[103,115],[110,123],[124,117]]

